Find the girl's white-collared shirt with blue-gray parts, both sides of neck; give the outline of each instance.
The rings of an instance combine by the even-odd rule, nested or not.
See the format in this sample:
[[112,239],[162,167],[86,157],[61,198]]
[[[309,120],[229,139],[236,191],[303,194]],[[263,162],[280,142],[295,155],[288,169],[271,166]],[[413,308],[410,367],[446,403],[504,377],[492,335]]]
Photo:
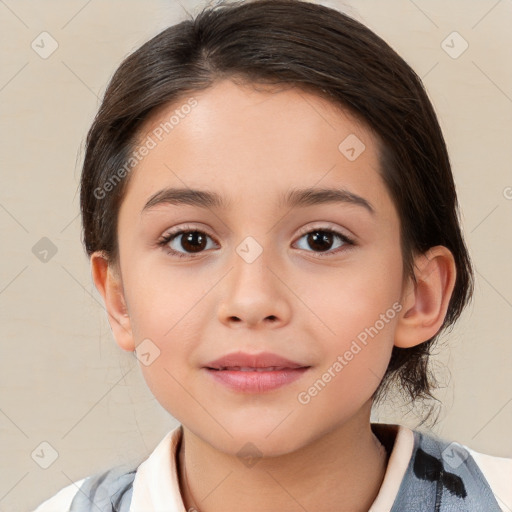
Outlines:
[[[379,438],[391,439],[392,446],[369,512],[512,510],[512,459],[481,454],[400,425],[372,424],[372,428]],[[83,478],[34,512],[187,512],[177,471],[182,435],[178,425],[136,467],[116,467]]]

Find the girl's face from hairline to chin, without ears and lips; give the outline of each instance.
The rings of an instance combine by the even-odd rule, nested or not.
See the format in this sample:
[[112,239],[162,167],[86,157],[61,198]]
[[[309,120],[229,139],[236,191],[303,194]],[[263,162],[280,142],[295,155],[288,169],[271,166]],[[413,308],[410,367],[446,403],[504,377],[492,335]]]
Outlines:
[[[226,453],[250,441],[283,454],[367,424],[404,297],[375,138],[294,89],[225,80],[190,97],[141,132],[119,212],[118,343],[142,343],[156,399]],[[337,192],[315,192],[327,189]],[[276,389],[236,390],[205,365],[238,351],[309,368]]]

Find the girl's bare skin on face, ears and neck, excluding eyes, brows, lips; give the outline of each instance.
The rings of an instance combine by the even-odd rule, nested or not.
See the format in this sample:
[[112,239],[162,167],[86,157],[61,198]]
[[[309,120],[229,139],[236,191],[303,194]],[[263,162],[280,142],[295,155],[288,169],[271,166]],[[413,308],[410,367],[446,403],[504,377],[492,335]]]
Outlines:
[[[119,346],[133,351],[149,338],[160,351],[140,367],[184,427],[185,505],[201,512],[322,512],[340,503],[368,510],[387,464],[370,427],[371,396],[393,344],[414,346],[441,327],[453,257],[433,247],[416,258],[417,286],[403,275],[400,221],[379,175],[377,140],[347,112],[296,88],[255,90],[230,80],[193,96],[197,106],[132,171],[119,213],[119,268],[101,252],[91,257]],[[141,140],[179,106],[147,120]],[[338,149],[350,134],[366,147],[354,161]],[[231,205],[161,204],[141,213],[168,186],[215,191]],[[282,193],[303,187],[343,187],[369,201],[375,215],[348,203],[279,207]],[[180,236],[167,250],[158,246],[179,227],[208,235],[202,252],[191,254]],[[319,251],[304,233],[323,227],[355,245],[335,236],[329,251]],[[262,249],[251,263],[237,253],[248,236]],[[396,303],[400,311],[378,334],[300,403],[298,394]],[[274,352],[311,368],[272,392],[235,392],[202,369],[235,350]],[[251,467],[237,456],[246,443],[262,455]]]

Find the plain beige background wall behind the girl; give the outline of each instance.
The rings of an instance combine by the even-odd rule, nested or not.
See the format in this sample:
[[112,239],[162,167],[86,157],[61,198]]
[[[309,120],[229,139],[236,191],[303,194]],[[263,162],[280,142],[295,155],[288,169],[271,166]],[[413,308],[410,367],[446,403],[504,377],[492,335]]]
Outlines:
[[[424,77],[477,270],[474,303],[437,358],[449,385],[435,431],[512,457],[512,2],[322,3],[363,21]],[[176,424],[113,341],[80,244],[77,187],[82,143],[117,65],[200,5],[0,1],[1,511],[31,510],[72,481],[138,460]],[[47,59],[31,48],[42,31],[59,45]],[[453,31],[469,44],[456,59],[441,46]],[[32,252],[42,237],[57,247],[46,263]],[[414,426],[401,414],[388,407],[375,419]],[[48,469],[31,458],[44,441],[58,452]]]

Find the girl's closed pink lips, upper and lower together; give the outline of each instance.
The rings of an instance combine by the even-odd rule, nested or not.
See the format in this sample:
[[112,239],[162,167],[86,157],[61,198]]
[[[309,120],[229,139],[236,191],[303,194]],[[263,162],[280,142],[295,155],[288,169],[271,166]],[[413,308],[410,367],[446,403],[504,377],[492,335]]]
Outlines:
[[241,393],[273,391],[300,379],[309,368],[270,352],[235,352],[203,367],[216,382]]

